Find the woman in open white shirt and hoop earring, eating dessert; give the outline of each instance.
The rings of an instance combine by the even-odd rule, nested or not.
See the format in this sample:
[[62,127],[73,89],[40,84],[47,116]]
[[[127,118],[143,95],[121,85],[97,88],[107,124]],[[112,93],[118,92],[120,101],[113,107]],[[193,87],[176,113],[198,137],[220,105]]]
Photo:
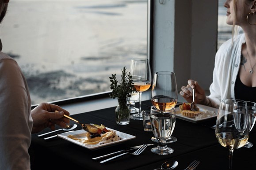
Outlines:
[[180,95],[192,102],[195,88],[195,102],[218,108],[223,99],[233,98],[256,102],[256,0],[226,0],[226,23],[240,26],[244,33],[234,36],[219,48],[215,57],[213,82],[210,95],[199,83],[188,80]]

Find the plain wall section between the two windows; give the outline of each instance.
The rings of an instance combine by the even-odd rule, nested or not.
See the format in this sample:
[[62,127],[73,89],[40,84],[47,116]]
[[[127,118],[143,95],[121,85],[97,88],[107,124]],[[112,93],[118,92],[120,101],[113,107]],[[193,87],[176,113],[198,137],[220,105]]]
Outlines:
[[174,71],[179,90],[190,78],[209,90],[217,23],[218,0],[154,0],[153,72]]

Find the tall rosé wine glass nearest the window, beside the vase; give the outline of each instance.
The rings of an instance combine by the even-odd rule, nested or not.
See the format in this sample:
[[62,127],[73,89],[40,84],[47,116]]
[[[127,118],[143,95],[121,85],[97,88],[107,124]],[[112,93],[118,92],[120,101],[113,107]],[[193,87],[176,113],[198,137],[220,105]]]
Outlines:
[[139,112],[130,115],[131,119],[142,120],[141,92],[145,92],[151,85],[151,70],[148,59],[132,59],[130,73],[132,77],[140,76],[141,81],[134,81],[134,87],[139,92]]

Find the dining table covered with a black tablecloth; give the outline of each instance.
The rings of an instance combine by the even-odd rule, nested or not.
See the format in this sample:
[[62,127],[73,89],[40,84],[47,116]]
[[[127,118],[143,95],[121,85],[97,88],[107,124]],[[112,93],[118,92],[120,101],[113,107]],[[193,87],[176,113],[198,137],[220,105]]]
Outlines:
[[[151,105],[151,100],[142,101],[141,109],[150,110]],[[118,125],[115,122],[115,108],[95,109],[95,111],[71,115],[71,117],[83,123],[103,124],[107,128],[133,135],[135,136],[134,139],[96,149],[88,149],[60,137],[49,140],[38,137],[39,134],[51,131],[50,128],[46,128],[40,133],[32,134],[29,148],[31,170],[154,170],[160,168],[168,160],[178,162],[175,170],[184,170],[194,160],[200,161],[196,170],[229,169],[229,150],[218,143],[215,130],[212,129],[212,126],[216,123],[216,117],[198,122],[190,122],[176,117],[176,125],[172,136],[176,137],[177,141],[167,144],[168,147],[174,149],[174,152],[169,155],[157,155],[150,151],[151,148],[157,146],[157,143],[151,140],[153,132],[145,132],[141,120],[130,119],[129,124]],[[74,122],[70,121],[70,123]],[[56,126],[56,129],[61,128]],[[78,125],[74,130],[80,129],[82,127]],[[56,132],[56,134],[60,133],[64,133],[64,131]],[[256,169],[255,133],[254,128],[248,139],[248,141],[255,144],[252,148],[234,150],[233,170]],[[154,145],[148,146],[140,155],[126,154],[106,163],[100,163],[104,159],[92,159],[141,144]]]

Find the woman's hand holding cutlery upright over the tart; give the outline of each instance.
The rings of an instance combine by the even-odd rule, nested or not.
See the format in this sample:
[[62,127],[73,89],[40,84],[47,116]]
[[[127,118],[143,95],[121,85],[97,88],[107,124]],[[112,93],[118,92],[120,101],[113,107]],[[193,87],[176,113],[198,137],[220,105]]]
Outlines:
[[180,96],[183,96],[187,102],[192,103],[192,89],[195,89],[195,103],[206,105],[208,99],[205,95],[204,89],[201,88],[198,82],[194,80],[188,80],[187,83],[188,85],[186,87],[181,87],[182,91],[180,91]]

